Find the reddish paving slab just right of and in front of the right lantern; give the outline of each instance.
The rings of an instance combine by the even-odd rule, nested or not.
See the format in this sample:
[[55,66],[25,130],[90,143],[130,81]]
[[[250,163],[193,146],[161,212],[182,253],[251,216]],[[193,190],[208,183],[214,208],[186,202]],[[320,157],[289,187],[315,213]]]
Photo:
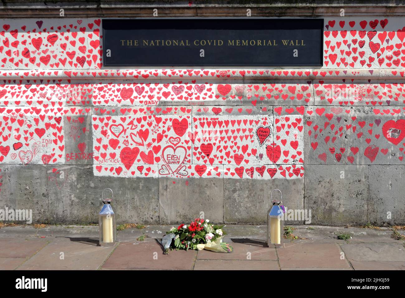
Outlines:
[[286,243],[277,249],[281,269],[350,268],[341,259],[341,250],[333,243]]

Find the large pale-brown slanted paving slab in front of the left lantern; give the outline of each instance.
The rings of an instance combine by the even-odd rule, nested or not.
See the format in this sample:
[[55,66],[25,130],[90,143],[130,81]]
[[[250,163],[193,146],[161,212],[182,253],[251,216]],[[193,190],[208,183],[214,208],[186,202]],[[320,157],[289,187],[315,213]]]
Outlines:
[[18,270],[97,270],[114,249],[98,247],[97,242],[85,243],[83,238],[78,240],[51,242]]

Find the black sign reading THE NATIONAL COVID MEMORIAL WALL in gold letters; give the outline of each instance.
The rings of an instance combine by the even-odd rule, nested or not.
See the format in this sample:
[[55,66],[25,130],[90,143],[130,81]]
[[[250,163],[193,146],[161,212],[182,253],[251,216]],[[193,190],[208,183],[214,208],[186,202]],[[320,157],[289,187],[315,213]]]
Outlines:
[[322,66],[323,24],[323,19],[103,19],[104,66]]

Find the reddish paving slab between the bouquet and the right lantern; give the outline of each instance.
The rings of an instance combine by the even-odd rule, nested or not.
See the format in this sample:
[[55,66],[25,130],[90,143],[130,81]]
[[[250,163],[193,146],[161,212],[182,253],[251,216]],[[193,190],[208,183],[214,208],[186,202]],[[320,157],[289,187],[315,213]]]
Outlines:
[[232,253],[215,253],[205,249],[198,251],[197,259],[211,260],[277,260],[274,248],[266,247],[264,242],[257,243],[230,243]]

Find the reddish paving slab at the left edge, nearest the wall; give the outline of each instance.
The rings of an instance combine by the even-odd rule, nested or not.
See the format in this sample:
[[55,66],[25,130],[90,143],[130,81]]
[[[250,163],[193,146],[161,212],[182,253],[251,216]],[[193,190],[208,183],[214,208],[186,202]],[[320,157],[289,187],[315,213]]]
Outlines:
[[30,257],[47,243],[42,239],[0,238],[0,257]]

